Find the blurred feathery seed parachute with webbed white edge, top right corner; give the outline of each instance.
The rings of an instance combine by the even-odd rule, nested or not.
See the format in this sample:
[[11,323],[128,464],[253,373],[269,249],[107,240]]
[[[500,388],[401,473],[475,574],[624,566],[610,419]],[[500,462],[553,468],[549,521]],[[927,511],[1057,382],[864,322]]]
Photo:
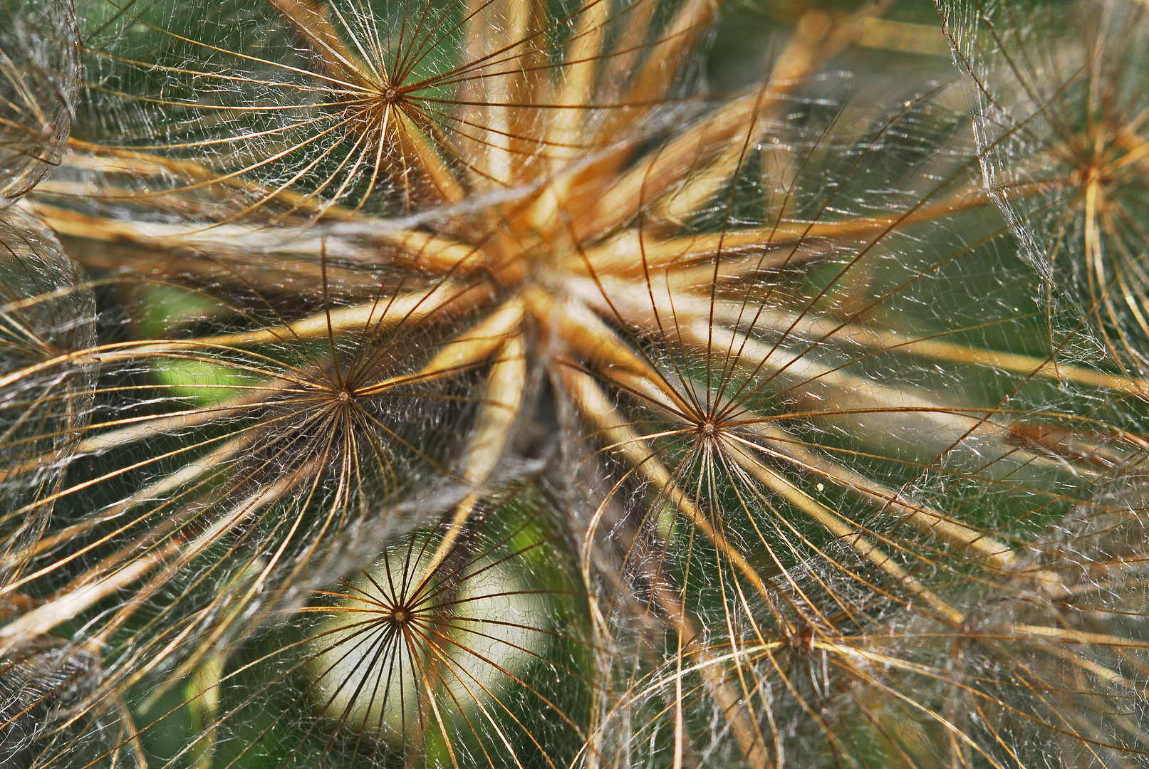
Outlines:
[[1007,8],[942,6],[958,61],[985,104],[979,138],[990,191],[1050,290],[1073,306],[1063,323],[1086,316],[1111,363],[1142,375],[1149,360],[1144,5],[1041,3],[1040,23]]

